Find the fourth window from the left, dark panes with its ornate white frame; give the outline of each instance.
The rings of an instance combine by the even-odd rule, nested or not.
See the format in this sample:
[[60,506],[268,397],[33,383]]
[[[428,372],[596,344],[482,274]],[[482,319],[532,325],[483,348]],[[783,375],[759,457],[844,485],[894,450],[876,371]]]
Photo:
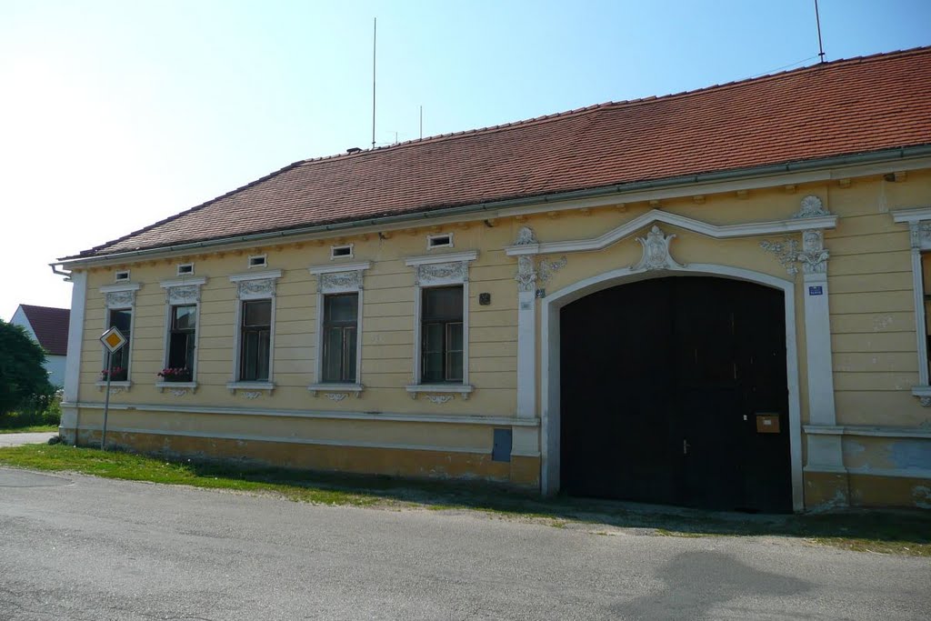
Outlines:
[[362,277],[370,262],[317,265],[317,392],[362,390]]

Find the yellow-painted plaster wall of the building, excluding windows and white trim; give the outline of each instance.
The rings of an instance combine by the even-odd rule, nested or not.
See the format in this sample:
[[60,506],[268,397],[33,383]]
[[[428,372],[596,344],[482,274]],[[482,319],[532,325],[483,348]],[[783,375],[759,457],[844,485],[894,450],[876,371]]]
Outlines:
[[[920,428],[931,425],[931,410],[911,396],[917,385],[918,360],[911,291],[911,255],[908,226],[894,223],[890,209],[931,203],[931,171],[910,171],[905,182],[886,182],[880,176],[855,178],[849,186],[815,182],[787,189],[734,191],[665,199],[658,209],[714,224],[783,220],[798,211],[803,196],[815,195],[824,207],[838,215],[835,230],[825,234],[830,250],[830,329],[833,380],[838,425],[870,425]],[[449,416],[513,417],[517,408],[517,299],[514,280],[517,261],[504,248],[514,242],[522,226],[533,228],[543,242],[573,240],[604,234],[649,209],[647,202],[520,217],[499,217],[488,223],[457,223],[421,227],[378,235],[343,236],[327,240],[289,242],[246,251],[205,253],[166,260],[126,263],[131,280],[142,283],[133,317],[132,377],[126,393],[114,396],[116,404],[171,404],[200,408],[254,407],[276,411],[393,412]],[[663,225],[675,233],[671,254],[680,263],[717,263],[791,279],[776,256],[762,250],[762,239],[781,241],[781,236],[715,240],[694,232]],[[426,235],[452,233],[452,252],[479,250],[469,270],[470,383],[475,392],[467,400],[457,396],[437,404],[409,397],[412,383],[414,268],[404,264],[411,256],[442,253],[426,250]],[[638,235],[642,235],[640,232]],[[799,238],[799,236],[795,236]],[[361,398],[334,402],[322,394],[312,397],[307,385],[317,381],[314,367],[317,348],[317,277],[311,265],[331,264],[330,245],[353,243],[355,256],[346,263],[371,261],[364,276]],[[233,373],[233,338],[236,331],[236,287],[231,275],[246,273],[247,256],[267,252],[268,269],[281,269],[277,281],[274,382],[271,395],[254,400],[231,394],[226,383]],[[544,257],[556,261],[562,255]],[[567,263],[551,279],[537,286],[553,294],[587,277],[629,266],[641,258],[634,236],[605,250],[566,254]],[[174,279],[175,265],[196,263],[196,276],[208,277],[202,288],[196,394],[174,397],[155,388],[155,373],[163,366],[165,290],[161,280]],[[97,338],[104,328],[101,286],[113,284],[117,266],[93,269],[88,277],[88,297],[82,352],[79,400],[102,401],[95,385],[101,369]],[[796,334],[799,354],[797,381],[802,396],[802,420],[808,421],[807,371],[803,279],[795,277]],[[478,304],[479,293],[491,293],[492,304]],[[539,304],[539,303],[537,303]],[[538,344],[541,339],[538,338]],[[539,353],[538,353],[539,359]],[[537,366],[539,372],[539,365]],[[543,385],[537,377],[537,385]],[[538,396],[539,397],[539,396]],[[537,402],[539,403],[539,398]],[[81,425],[93,425],[99,412],[82,410]],[[452,451],[491,451],[491,425],[444,423],[385,423],[248,415],[166,412],[115,413],[117,425],[201,434],[253,437],[321,439],[348,443],[383,443],[410,447],[441,446]],[[845,464],[852,468],[890,468],[890,454],[900,439],[845,440]],[[855,446],[856,444],[856,446]],[[916,445],[917,446],[917,445]],[[924,444],[923,446],[927,446]],[[852,447],[852,448],[851,448]],[[890,448],[893,447],[893,448]],[[531,451],[533,452],[533,451]],[[920,450],[919,450],[920,452]],[[931,452],[929,452],[931,455]],[[895,460],[893,460],[895,461]],[[927,468],[931,468],[931,456]],[[914,466],[914,467],[919,467]],[[869,502],[864,501],[867,504]]]

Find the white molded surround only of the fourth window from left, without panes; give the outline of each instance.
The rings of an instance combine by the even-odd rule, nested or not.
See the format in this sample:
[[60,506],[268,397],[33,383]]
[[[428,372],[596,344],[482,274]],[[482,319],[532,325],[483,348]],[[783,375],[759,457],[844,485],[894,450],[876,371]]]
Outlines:
[[[326,394],[331,400],[342,400],[348,394],[361,397],[365,385],[362,384],[362,278],[365,270],[371,267],[371,262],[341,263],[336,265],[312,265],[308,271],[317,277],[317,353],[315,354],[314,378],[315,384],[307,386],[311,396],[317,393]],[[323,383],[318,380],[323,375],[323,305],[324,297],[333,293],[357,293],[357,323],[356,323],[356,383],[339,384]]]

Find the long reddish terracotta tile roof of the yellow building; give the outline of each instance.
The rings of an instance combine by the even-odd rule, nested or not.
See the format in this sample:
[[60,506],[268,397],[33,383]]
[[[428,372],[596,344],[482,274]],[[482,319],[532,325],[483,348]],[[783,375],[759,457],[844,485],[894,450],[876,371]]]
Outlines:
[[94,256],[931,144],[931,47],[295,162]]

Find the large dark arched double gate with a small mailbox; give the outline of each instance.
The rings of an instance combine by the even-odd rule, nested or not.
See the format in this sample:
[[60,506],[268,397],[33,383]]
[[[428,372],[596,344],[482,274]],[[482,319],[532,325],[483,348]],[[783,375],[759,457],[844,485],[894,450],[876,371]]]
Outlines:
[[790,512],[783,293],[666,277],[560,313],[560,487]]

